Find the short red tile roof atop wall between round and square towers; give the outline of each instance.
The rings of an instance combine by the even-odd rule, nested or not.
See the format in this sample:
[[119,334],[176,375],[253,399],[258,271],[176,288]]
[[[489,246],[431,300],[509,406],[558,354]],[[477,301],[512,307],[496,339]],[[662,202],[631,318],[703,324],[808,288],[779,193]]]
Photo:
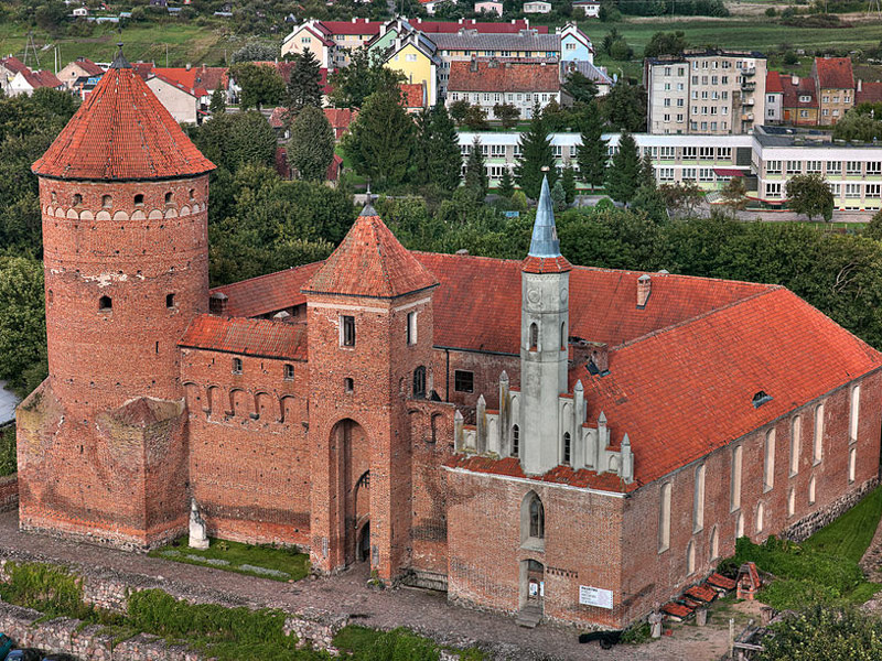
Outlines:
[[178,345],[243,356],[305,360],[306,325],[201,314]]

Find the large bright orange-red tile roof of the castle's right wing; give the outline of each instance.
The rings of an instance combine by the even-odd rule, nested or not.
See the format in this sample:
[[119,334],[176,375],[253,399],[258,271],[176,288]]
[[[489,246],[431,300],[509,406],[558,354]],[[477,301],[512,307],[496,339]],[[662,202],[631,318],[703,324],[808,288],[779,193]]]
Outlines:
[[[580,367],[570,382],[582,380],[589,421],[606,414],[614,446],[628,434],[647,484],[879,367],[882,354],[774,286],[627,342],[610,373]],[[760,391],[772,400],[754,407]]]

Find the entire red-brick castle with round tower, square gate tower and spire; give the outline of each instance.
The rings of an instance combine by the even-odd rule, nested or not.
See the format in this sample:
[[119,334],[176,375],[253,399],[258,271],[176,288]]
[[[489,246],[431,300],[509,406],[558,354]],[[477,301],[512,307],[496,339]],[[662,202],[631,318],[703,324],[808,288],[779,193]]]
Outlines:
[[875,484],[882,355],[781,286],[405,249],[208,289],[214,165],[120,54],[33,165],[49,378],[20,525],[143,550],[298,544],[332,573],[622,627],[735,539]]

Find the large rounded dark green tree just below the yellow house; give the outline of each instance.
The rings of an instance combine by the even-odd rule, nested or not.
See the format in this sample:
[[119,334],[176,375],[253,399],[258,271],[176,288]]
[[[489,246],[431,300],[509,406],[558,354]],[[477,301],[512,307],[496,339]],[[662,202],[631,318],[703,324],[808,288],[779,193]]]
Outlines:
[[355,171],[387,186],[404,182],[412,164],[415,143],[416,126],[401,107],[397,89],[369,96],[343,138],[343,149]]

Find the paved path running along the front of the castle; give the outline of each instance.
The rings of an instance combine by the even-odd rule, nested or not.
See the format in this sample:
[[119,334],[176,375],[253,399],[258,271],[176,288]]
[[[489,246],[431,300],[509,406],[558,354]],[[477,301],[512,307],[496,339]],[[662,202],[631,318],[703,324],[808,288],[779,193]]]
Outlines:
[[[332,614],[356,615],[355,624],[377,628],[407,626],[448,643],[496,641],[494,649],[499,658],[507,659],[699,661],[719,658],[727,641],[722,628],[684,627],[674,637],[650,644],[620,646],[603,651],[595,642],[579,644],[576,632],[570,629],[550,626],[524,629],[509,617],[451,606],[439,593],[415,588],[377,592],[367,587],[364,565],[331,578],[281,584],[49,535],[21,533],[17,512],[0,513],[0,554],[8,551],[30,554],[35,556],[34,560],[87,564],[151,577],[168,585],[170,592],[180,593],[184,588],[191,595],[211,597],[219,593],[252,606],[312,607]],[[504,641],[502,649],[498,641]]]

